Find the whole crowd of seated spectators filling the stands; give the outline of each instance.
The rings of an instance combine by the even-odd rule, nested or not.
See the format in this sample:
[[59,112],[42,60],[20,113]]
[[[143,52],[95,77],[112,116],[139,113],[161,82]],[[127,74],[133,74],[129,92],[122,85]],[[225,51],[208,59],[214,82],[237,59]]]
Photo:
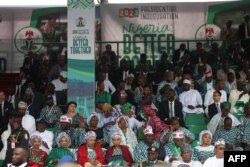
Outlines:
[[[17,148],[32,167],[201,167],[223,163],[224,150],[250,150],[249,53],[183,43],[171,60],[164,53],[153,67],[142,53],[133,67],[124,58],[116,64],[107,48],[88,118],[67,102],[66,57],[27,55],[15,85],[0,90],[4,167],[16,163]],[[205,125],[198,132],[197,117]]]

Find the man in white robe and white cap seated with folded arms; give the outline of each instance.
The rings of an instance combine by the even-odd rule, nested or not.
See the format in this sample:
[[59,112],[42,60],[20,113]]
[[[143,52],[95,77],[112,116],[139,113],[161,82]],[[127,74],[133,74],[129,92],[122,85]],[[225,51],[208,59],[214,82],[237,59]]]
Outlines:
[[191,89],[190,80],[185,79],[183,81],[183,89],[184,92],[182,92],[179,96],[180,102],[183,106],[183,114],[185,115],[186,113],[204,113],[204,110],[202,108],[203,101],[201,95],[197,90]]

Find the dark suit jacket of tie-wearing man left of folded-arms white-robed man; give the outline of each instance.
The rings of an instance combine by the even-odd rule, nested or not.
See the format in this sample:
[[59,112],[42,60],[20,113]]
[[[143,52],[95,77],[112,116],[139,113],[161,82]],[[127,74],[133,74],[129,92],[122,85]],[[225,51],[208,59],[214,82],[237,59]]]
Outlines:
[[[168,105],[169,101],[168,100],[164,100],[162,102],[159,103],[159,112],[158,112],[158,116],[160,117],[160,119],[164,122],[166,122],[167,124],[169,124],[169,105]],[[182,113],[182,104],[181,102],[179,102],[178,100],[174,101],[174,113],[176,117],[179,117],[179,121],[180,121],[180,125],[182,127],[185,126],[184,120],[183,120],[183,113]]]

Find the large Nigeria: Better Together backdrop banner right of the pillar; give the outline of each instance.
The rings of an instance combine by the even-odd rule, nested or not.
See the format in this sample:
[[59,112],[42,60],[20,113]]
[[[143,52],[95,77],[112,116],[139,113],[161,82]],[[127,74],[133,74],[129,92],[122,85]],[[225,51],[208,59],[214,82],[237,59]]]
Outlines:
[[[210,44],[220,39],[226,20],[233,18],[233,27],[237,29],[245,13],[249,11],[249,1],[102,4],[102,41],[124,42],[119,45],[120,59],[125,57],[135,65],[140,53],[146,53],[154,64],[163,52],[172,56],[174,49],[181,43],[178,40],[194,40],[190,43],[190,48],[195,47],[196,41],[206,40],[203,41],[205,48],[210,49]],[[173,42],[174,40],[177,42]],[[137,41],[141,43],[135,43]],[[221,44],[220,42],[219,45]],[[113,48],[116,48],[114,45]]]

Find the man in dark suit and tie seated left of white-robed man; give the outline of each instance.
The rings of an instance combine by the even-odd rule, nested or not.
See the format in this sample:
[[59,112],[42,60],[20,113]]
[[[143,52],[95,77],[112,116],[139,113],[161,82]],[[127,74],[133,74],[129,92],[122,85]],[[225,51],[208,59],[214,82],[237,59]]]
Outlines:
[[182,104],[175,99],[174,89],[169,88],[167,91],[167,100],[159,103],[158,115],[160,119],[167,124],[170,124],[169,121],[172,117],[179,117],[180,125],[185,126],[182,113]]

